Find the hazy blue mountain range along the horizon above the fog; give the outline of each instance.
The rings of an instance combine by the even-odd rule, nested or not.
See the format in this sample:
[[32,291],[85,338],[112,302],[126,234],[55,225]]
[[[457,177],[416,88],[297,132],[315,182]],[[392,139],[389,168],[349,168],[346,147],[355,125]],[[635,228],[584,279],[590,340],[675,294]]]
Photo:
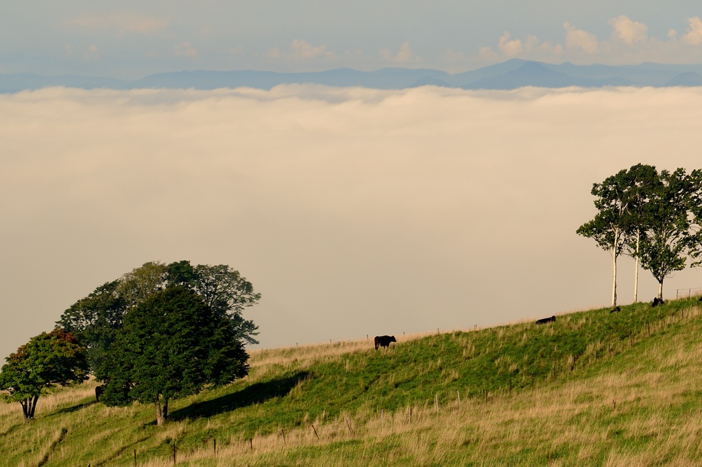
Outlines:
[[404,89],[418,86],[444,86],[463,89],[516,89],[524,86],[564,88],[581,86],[702,86],[702,65],[551,65],[512,59],[470,72],[449,74],[436,69],[383,68],[359,72],[340,68],[326,72],[277,73],[237,70],[213,72],[158,73],[142,79],[123,80],[95,76],[41,76],[36,74],[0,74],[0,93],[66,86],[95,89],[217,89],[247,86],[270,89],[279,84],[314,83],[325,86],[360,86],[376,89]]

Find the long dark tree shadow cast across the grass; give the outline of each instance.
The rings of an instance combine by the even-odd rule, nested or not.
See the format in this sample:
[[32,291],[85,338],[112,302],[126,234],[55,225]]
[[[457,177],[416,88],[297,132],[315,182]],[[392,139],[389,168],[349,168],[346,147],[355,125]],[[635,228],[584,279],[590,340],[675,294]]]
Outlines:
[[283,397],[297,386],[300,381],[308,379],[310,372],[298,372],[290,377],[272,379],[263,383],[252,384],[251,386],[235,393],[220,396],[215,399],[195,402],[194,404],[178,409],[169,414],[172,421],[199,417],[211,417],[224,412],[231,412],[239,407],[259,404],[266,400]]

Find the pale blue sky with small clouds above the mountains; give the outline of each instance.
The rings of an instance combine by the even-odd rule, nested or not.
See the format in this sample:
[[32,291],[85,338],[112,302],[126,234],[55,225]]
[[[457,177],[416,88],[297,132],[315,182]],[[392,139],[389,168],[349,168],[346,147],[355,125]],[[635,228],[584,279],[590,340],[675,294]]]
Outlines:
[[0,73],[701,63],[701,16],[698,1],[0,0]]

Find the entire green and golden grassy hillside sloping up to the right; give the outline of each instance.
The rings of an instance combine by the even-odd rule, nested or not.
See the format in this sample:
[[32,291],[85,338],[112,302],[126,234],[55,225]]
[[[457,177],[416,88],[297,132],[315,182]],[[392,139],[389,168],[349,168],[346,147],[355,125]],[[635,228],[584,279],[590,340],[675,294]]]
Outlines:
[[[94,402],[95,383],[0,405],[6,466],[699,465],[694,300],[484,330],[253,352],[251,374],[173,403]],[[459,402],[460,397],[460,402]],[[214,452],[213,443],[217,443]]]

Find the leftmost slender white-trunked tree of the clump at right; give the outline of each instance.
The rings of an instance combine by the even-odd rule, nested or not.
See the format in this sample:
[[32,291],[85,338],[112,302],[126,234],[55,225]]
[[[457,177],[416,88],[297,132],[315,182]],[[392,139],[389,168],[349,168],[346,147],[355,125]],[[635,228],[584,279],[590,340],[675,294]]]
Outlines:
[[[655,168],[654,168],[655,170]],[[602,183],[592,184],[595,196],[595,218],[581,225],[576,233],[593,238],[597,246],[609,251],[612,257],[612,306],[616,306],[616,266],[619,255],[627,247],[635,230],[636,217],[632,214],[637,203],[637,176],[642,165],[620,170]]]

